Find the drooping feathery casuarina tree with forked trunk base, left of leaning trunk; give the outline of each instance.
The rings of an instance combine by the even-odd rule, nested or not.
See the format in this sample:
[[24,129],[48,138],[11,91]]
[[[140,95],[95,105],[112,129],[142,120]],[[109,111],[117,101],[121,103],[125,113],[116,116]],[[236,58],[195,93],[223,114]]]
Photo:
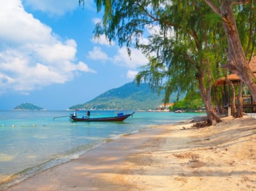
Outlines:
[[[199,89],[208,124],[212,124],[213,119],[221,121],[213,109],[212,84],[218,65],[226,55],[230,60],[224,51],[230,42],[227,44],[222,27],[224,17],[216,12],[217,1],[205,2],[96,0],[98,11],[104,8],[104,16],[94,32],[96,36],[105,35],[110,43],[118,40],[120,46],[126,44],[129,54],[132,45],[142,49],[149,63],[136,80],[147,80],[151,87],[164,89],[165,101],[172,91]],[[155,28],[158,32],[152,33]],[[144,44],[140,40],[148,31],[149,42]]]

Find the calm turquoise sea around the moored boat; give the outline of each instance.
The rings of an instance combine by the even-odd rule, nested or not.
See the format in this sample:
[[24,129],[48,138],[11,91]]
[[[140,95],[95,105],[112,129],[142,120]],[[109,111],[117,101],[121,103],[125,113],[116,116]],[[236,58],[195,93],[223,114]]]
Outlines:
[[[133,111],[90,111],[90,117]],[[0,190],[122,135],[176,124],[205,113],[141,112],[122,122],[72,122],[73,111],[0,111]],[[76,111],[78,117],[86,111]]]

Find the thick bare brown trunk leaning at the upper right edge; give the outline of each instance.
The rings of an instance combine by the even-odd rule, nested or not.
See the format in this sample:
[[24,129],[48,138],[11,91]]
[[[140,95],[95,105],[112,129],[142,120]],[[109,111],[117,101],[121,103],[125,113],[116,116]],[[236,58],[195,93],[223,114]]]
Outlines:
[[228,67],[229,70],[237,74],[238,77],[247,85],[253,100],[256,101],[256,79],[246,60],[240,37],[238,34],[236,21],[234,19],[232,0],[220,1],[220,13],[222,16],[226,36],[228,37]]

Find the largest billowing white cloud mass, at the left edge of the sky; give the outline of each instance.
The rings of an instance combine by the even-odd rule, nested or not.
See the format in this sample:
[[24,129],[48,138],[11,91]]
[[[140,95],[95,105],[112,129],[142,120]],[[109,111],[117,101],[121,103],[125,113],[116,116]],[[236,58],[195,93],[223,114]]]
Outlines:
[[28,14],[21,0],[0,2],[0,26],[0,92],[32,91],[65,83],[79,72],[96,73],[84,62],[75,63],[75,40],[62,41],[50,27]]

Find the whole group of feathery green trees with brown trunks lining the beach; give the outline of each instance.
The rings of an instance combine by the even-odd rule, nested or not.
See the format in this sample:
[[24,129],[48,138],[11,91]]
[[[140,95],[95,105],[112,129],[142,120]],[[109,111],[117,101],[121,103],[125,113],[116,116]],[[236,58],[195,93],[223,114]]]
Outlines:
[[[199,90],[208,125],[220,122],[214,105],[224,111],[224,90],[214,87],[214,80],[230,72],[240,77],[256,101],[256,79],[248,63],[255,50],[255,1],[97,0],[96,5],[103,11],[96,37],[105,35],[110,43],[118,40],[129,55],[131,47],[141,49],[148,64],[135,81],[164,90],[165,103],[172,92]],[[148,33],[144,43],[142,37]]]

